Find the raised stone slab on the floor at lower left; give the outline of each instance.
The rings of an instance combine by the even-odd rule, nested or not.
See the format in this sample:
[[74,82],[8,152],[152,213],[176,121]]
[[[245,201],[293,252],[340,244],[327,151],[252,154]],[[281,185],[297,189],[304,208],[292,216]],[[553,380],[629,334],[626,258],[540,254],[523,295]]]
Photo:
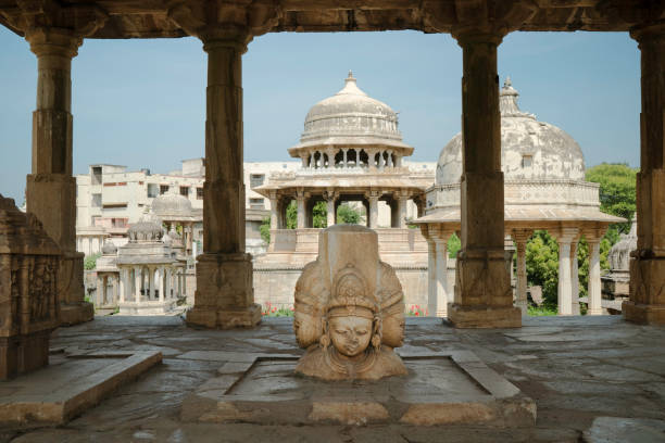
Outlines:
[[0,382],[0,427],[64,423],[161,362],[154,351],[52,355],[48,367]]

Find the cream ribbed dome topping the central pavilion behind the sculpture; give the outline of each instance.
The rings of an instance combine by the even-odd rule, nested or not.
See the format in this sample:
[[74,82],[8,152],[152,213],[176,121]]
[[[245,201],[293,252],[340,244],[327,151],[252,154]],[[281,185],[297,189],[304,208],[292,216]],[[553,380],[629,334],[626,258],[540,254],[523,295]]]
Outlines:
[[363,92],[351,72],[344,81],[339,92],[312,106],[301,143],[340,136],[402,140],[397,113]]

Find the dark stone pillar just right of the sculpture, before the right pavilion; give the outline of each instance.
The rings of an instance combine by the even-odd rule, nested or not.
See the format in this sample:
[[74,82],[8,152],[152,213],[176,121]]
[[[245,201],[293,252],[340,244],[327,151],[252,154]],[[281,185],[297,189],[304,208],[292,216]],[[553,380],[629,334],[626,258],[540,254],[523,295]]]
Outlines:
[[511,257],[504,251],[503,173],[497,47],[501,34],[464,28],[462,47],[461,177],[462,250],[457,255],[455,303],[449,319],[460,328],[522,326],[513,306]]

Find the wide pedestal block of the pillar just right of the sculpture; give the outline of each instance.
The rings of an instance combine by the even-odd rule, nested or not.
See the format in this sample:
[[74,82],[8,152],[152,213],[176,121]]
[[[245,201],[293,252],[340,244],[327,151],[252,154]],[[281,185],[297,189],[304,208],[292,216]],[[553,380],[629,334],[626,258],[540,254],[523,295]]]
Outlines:
[[448,309],[457,328],[518,328],[522,311],[513,306],[511,257],[503,249],[457,255],[455,302]]

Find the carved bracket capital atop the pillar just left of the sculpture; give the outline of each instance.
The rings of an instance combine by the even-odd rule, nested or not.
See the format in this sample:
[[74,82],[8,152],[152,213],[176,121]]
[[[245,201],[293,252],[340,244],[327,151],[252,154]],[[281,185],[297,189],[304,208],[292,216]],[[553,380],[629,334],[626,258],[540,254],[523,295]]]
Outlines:
[[253,37],[278,24],[281,10],[271,0],[180,0],[171,3],[166,15],[187,34],[201,39],[205,51],[222,45],[244,52]]

